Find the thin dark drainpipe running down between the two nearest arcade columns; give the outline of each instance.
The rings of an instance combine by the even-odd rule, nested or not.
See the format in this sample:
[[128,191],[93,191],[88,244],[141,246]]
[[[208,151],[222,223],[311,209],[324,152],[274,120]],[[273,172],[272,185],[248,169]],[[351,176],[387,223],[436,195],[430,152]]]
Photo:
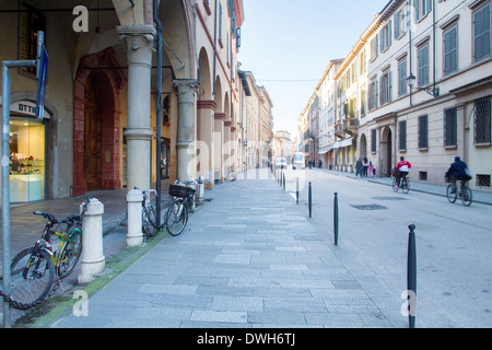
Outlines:
[[162,125],[162,116],[161,116],[161,97],[162,97],[162,23],[159,20],[159,2],[160,0],[154,0],[154,22],[155,30],[157,31],[157,91],[156,91],[156,147],[155,147],[155,172],[156,172],[156,191],[157,198],[155,200],[155,210],[157,215],[155,218],[157,226],[161,225],[161,152],[162,152],[162,143],[161,143],[161,125]]

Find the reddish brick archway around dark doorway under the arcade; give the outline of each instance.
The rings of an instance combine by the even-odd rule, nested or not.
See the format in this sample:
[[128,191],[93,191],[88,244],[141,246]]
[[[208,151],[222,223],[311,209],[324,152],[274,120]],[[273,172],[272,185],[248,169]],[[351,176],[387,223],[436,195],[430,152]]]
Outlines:
[[103,67],[119,67],[112,48],[81,59],[74,81],[73,196],[121,188],[119,92],[126,78]]

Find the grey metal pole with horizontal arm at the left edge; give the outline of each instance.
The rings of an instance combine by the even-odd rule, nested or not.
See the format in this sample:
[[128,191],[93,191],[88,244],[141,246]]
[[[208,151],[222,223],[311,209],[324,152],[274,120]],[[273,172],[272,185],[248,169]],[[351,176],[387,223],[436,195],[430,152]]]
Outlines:
[[[35,67],[36,60],[3,61],[2,65],[2,292],[10,295],[10,68]],[[11,328],[10,303],[3,302],[3,327]]]

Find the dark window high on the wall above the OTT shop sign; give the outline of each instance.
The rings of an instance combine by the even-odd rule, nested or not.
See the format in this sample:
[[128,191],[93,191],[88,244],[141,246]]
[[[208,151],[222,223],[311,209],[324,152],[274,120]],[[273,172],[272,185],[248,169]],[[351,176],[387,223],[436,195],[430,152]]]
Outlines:
[[[19,37],[19,58],[31,60],[37,58],[37,32],[46,33],[46,18],[38,10],[27,5],[22,5],[21,12],[21,35]],[[45,35],[46,40],[46,35]],[[22,68],[30,73],[36,73],[36,67]]]

